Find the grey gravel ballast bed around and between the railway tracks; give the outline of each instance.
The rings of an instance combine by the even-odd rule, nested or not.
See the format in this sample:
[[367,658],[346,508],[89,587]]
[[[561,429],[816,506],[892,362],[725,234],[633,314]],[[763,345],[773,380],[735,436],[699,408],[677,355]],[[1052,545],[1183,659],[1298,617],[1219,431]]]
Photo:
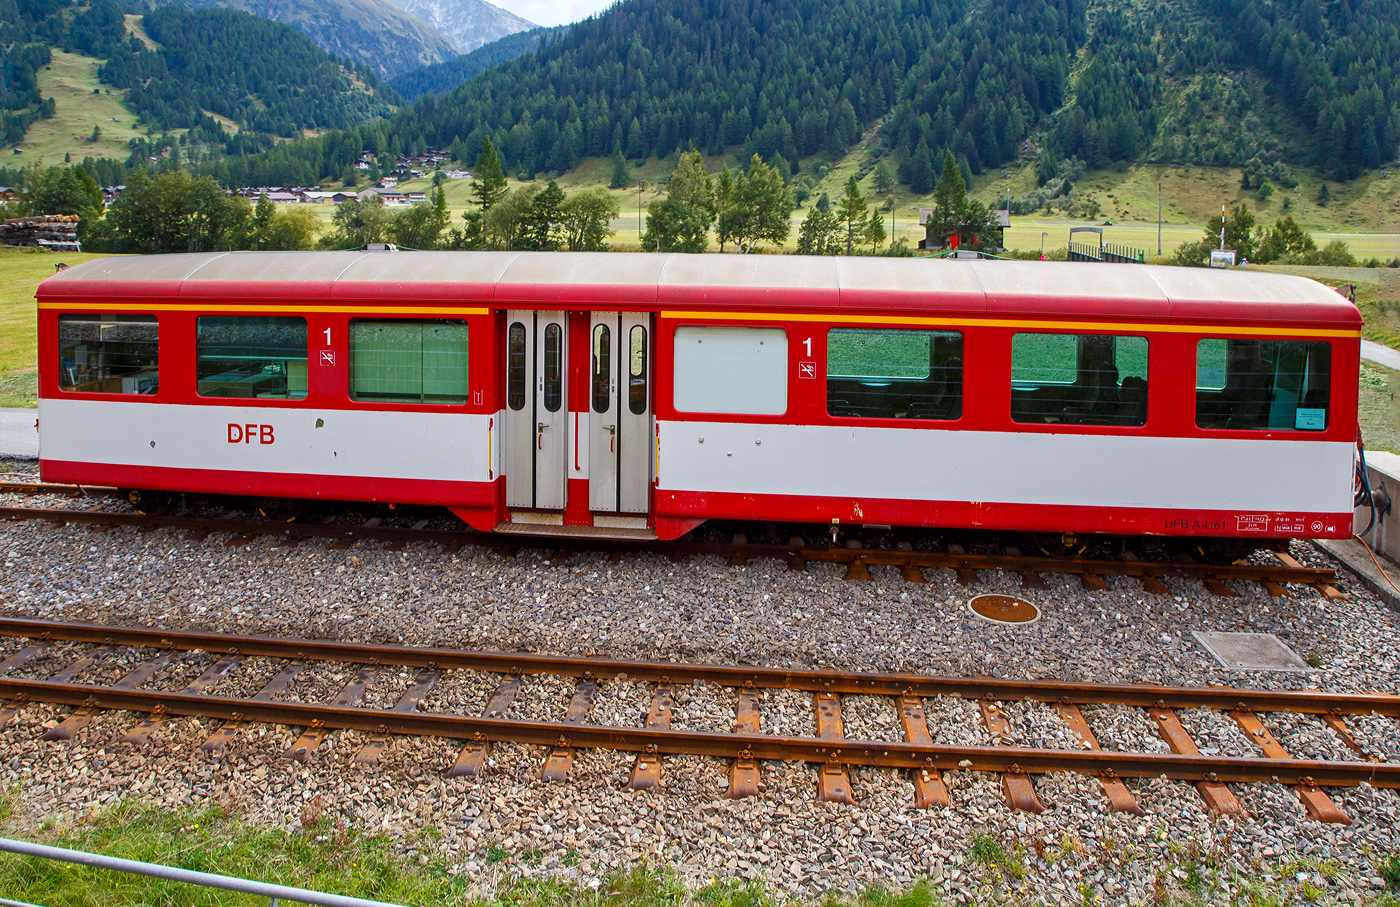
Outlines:
[[[1296,588],[1296,598],[1271,599],[1243,584],[1239,598],[1217,598],[1180,579],[1166,581],[1169,595],[1154,596],[1121,577],[1107,577],[1107,591],[1086,592],[1077,577],[1046,575],[1049,588],[1022,592],[1019,577],[1001,571],[983,572],[965,588],[949,571],[932,570],[925,571],[927,584],[916,585],[893,571],[874,571],[872,582],[846,582],[841,567],[811,564],[806,572],[790,572],[767,560],[731,567],[718,558],[672,563],[641,553],[616,563],[603,554],[560,561],[546,550],[510,557],[469,547],[444,554],[424,544],[388,551],[379,543],[333,550],[323,540],[297,547],[277,547],[267,537],[241,547],[224,542],[218,535],[188,542],[160,529],[0,523],[0,612],[645,661],[1091,683],[1394,693],[1400,676],[1400,619],[1359,584],[1343,602],[1309,588]],[[1310,546],[1295,544],[1294,554],[1329,563]],[[1022,595],[1043,617],[1015,628],[979,620],[966,602],[980,592]],[[1196,644],[1191,630],[1274,633],[1317,668],[1231,672]],[[0,640],[0,654],[18,645]],[[45,676],[63,663],[63,654],[85,651],[56,649],[18,676]],[[179,689],[210,663],[209,655],[179,655],[157,683]],[[279,666],[245,659],[211,691],[251,696]],[[132,668],[134,662],[111,659],[83,677],[115,680]],[[333,697],[357,669],[311,665],[281,697]],[[375,673],[363,704],[392,707],[414,679],[406,669]],[[424,708],[480,714],[498,680],[444,672]],[[510,714],[557,721],[573,691],[570,679],[526,677]],[[727,731],[734,700],[734,690],[680,684],[672,726]],[[601,683],[589,721],[640,726],[650,703],[648,684]],[[902,739],[893,700],[847,697],[841,707],[847,736]],[[809,696],[763,693],[759,710],[764,733],[815,732]],[[939,697],[925,700],[925,711],[939,743],[991,742],[976,704]],[[920,810],[902,773],[861,768],[850,773],[857,803],[843,806],[816,802],[816,770],[794,763],[763,763],[762,796],[731,801],[724,798],[727,766],[700,757],[666,759],[664,787],[637,792],[623,788],[630,754],[578,752],[570,784],[545,784],[538,778],[540,747],[497,745],[480,778],[447,780],[442,773],[461,742],[396,738],[381,766],[365,770],[353,760],[370,735],[351,732],[328,735],[305,763],[283,759],[298,728],[246,726],[223,756],[207,756],[199,745],[218,722],[196,718],[171,719],[141,749],[125,749],[116,739],[139,721],[130,712],[98,714],[73,745],[39,740],[66,714],[31,705],[0,732],[0,784],[20,785],[22,813],[76,817],[123,798],[168,806],[224,802],[248,822],[295,830],[304,805],[315,801],[328,816],[370,831],[416,840],[435,829],[441,837],[434,847],[484,892],[503,873],[588,885],[647,859],[671,864],[697,885],[732,875],[764,879],[802,897],[928,878],[955,901],[1019,893],[1081,903],[1091,890],[1105,903],[1141,903],[1179,887],[1172,868],[1193,859],[1211,868],[1210,900],[1228,900],[1239,879],[1273,879],[1296,892],[1303,882],[1296,876],[1310,873],[1306,880],[1322,900],[1350,903],[1380,894],[1376,859],[1400,850],[1400,795],[1369,787],[1329,791],[1351,815],[1350,826],[1306,819],[1296,796],[1280,785],[1232,785],[1249,816],[1212,819],[1189,784],[1130,780],[1147,815],[1110,813],[1098,781],[1077,775],[1037,778],[1047,810],[1028,815],[1005,806],[993,775],[948,773],[953,806]],[[1008,704],[1005,714],[1021,743],[1077,746],[1053,707]],[[1084,715],[1106,749],[1165,750],[1142,712],[1085,707]],[[1222,714],[1183,710],[1180,718],[1205,753],[1250,752],[1245,733]],[[1266,724],[1299,757],[1350,757],[1320,722],[1278,715],[1266,717]],[[1400,722],[1350,724],[1371,752],[1400,760]],[[988,869],[979,857],[983,840],[995,841],[1015,871]],[[1288,873],[1275,878],[1275,869]]]

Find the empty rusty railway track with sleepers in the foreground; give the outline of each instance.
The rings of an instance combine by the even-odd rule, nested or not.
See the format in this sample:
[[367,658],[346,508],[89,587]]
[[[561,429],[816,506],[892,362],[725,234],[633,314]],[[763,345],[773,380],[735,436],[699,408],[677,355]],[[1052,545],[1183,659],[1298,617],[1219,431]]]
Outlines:
[[[601,658],[547,656],[512,652],[469,652],[441,648],[375,645],[325,640],[280,640],[235,637],[224,633],[151,630],[101,624],[50,623],[0,619],[0,635],[22,638],[25,645],[0,661],[0,726],[10,724],[34,703],[73,707],[52,726],[46,740],[73,740],[98,710],[143,714],[122,736],[127,745],[143,745],[176,715],[199,715],[224,724],[203,743],[207,753],[221,753],[249,722],[302,728],[287,759],[307,760],[335,731],[354,729],[370,739],[354,757],[356,764],[377,764],[392,735],[448,738],[462,749],[448,777],[476,777],[487,771],[493,743],[512,742],[545,747],[539,775],[564,781],[577,749],[610,749],[636,753],[626,785],[651,788],[662,784],[665,757],[708,756],[727,760],[728,796],[759,794],[766,760],[798,760],[816,767],[816,795],[823,801],[854,802],[850,768],[904,768],[913,782],[917,806],[952,805],[946,771],[983,771],[1001,777],[1011,808],[1040,812],[1036,775],[1071,771],[1099,780],[1113,810],[1141,812],[1126,778],[1168,777],[1191,782],[1215,813],[1243,813],[1229,784],[1263,782],[1291,787],[1313,819],[1347,823],[1350,817],[1324,788],[1400,788],[1400,763],[1380,761],[1358,743],[1348,719],[1358,715],[1400,718],[1400,696],[1324,693],[1316,690],[1254,690],[1232,687],[1169,687],[1151,684],[1067,683],[1057,680],[1007,680],[993,677],[942,677],[904,673],[853,673],[840,670],[787,670],[752,665],[697,665],[669,662],[613,661]],[[70,661],[57,666],[41,659],[43,676],[20,676],[49,647],[69,644]],[[78,644],[78,645],[71,645]],[[136,649],[132,652],[130,649]],[[84,677],[104,662],[126,651],[136,663],[112,683],[85,683]],[[230,697],[220,693],[225,679],[235,676],[248,658],[273,659],[281,665],[259,693]],[[181,690],[153,689],[151,679],[178,659],[195,659],[190,668],[202,673]],[[358,666],[353,680],[328,703],[300,703],[279,698],[293,682],[318,662]],[[392,708],[365,708],[358,703],[379,682],[384,672],[416,669],[417,673]],[[420,711],[424,697],[444,672],[470,670],[491,684],[480,715]],[[554,675],[573,680],[574,691],[559,721],[519,721],[510,715],[522,687],[522,677]],[[589,722],[589,710],[602,684],[626,677],[651,687],[651,704],[637,726],[606,726]],[[678,687],[708,683],[734,691],[731,732],[683,731],[671,726]],[[811,738],[774,736],[762,732],[762,700],[766,690],[795,690],[811,696],[813,726]],[[900,740],[860,740],[844,735],[841,697],[888,697],[902,726]],[[945,746],[946,728],[930,726],[925,700],[956,697],[977,704],[980,721],[993,740],[987,746]],[[1044,749],[1021,745],[1007,718],[1007,704],[1043,703],[1058,711],[1074,732],[1078,749]],[[1156,728],[1170,752],[1119,752],[1099,746],[1082,711],[1086,705],[1116,704],[1140,710]],[[561,704],[556,704],[561,705]],[[1257,753],[1249,757],[1203,754],[1177,717],[1182,708],[1224,712],[1245,732]],[[554,710],[559,714],[559,708]],[[1337,736],[1352,760],[1292,759],[1270,732],[1274,712],[1291,712],[1320,722]],[[1092,715],[1092,712],[1091,712]],[[109,746],[111,742],[102,742]],[[1338,750],[1343,752],[1343,750]],[[620,780],[620,778],[619,778]]]

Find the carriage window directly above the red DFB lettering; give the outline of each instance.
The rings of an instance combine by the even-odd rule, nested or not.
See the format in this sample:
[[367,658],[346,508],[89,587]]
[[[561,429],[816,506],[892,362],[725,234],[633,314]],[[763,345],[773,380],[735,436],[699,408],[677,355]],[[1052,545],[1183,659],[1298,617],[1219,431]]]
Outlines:
[[195,335],[200,396],[300,400],[307,396],[307,319],[203,315]]

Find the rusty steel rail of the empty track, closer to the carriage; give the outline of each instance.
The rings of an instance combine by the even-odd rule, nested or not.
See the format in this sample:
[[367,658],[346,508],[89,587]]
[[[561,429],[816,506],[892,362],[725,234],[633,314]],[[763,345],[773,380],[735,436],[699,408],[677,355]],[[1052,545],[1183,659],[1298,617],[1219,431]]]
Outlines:
[[1004,677],[948,677],[893,672],[763,668],[750,665],[699,665],[620,661],[577,655],[522,652],[472,652],[410,645],[340,642],[335,640],[286,640],[228,635],[197,630],[157,630],[105,624],[53,623],[0,617],[0,635],[29,640],[130,645],[210,654],[260,655],[294,661],[346,662],[476,670],[500,675],[560,675],[612,679],[619,675],[651,683],[706,682],[727,687],[801,690],[857,696],[920,697],[955,696],[966,700],[1114,703],[1141,708],[1217,708],[1257,712],[1386,715],[1400,718],[1400,696],[1386,693],[1327,693],[1322,690],[1259,690],[1243,687],[1182,687],[1147,683],[1075,683],[1067,680],[1014,680]]

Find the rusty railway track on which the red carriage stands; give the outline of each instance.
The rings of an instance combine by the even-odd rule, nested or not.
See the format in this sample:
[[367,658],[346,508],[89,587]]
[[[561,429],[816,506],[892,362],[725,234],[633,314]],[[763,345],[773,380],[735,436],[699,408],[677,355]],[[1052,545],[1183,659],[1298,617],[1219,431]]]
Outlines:
[[[43,486],[24,483],[0,483],[0,493],[18,494],[99,494],[112,490],[84,491],[76,486]],[[1303,567],[1287,553],[1270,551],[1270,564],[1204,564],[1190,558],[1175,561],[1142,561],[1126,554],[1120,558],[1086,557],[1042,557],[1023,554],[1016,549],[1002,553],[967,551],[958,544],[948,544],[942,551],[918,551],[907,543],[896,549],[867,549],[858,543],[847,547],[816,547],[802,544],[749,543],[742,536],[734,542],[616,542],[605,539],[531,539],[504,536],[475,529],[434,529],[427,519],[412,526],[384,525],[378,516],[371,516],[358,525],[326,522],[279,522],[274,519],[230,519],[196,515],[155,515],[134,511],[119,512],[94,505],[90,509],[0,507],[0,519],[39,519],[53,523],[90,525],[104,529],[116,526],[137,526],[148,530],[157,528],[182,529],[193,540],[204,540],[214,533],[225,533],[227,544],[246,544],[256,537],[274,536],[280,544],[295,546],[307,539],[330,539],[332,547],[349,549],[360,542],[384,542],[389,550],[400,550],[410,543],[440,544],[447,551],[462,546],[493,547],[515,551],[528,547],[547,547],[560,557],[585,550],[608,551],[610,557],[622,557],[629,551],[664,553],[672,560],[693,556],[724,557],[731,564],[745,564],[753,558],[774,558],[784,561],[790,570],[806,570],[812,563],[834,563],[846,565],[846,579],[871,579],[871,567],[896,567],[906,582],[925,582],[925,570],[951,570],[958,582],[972,585],[983,570],[1007,570],[1021,575],[1022,588],[1043,588],[1042,574],[1068,574],[1079,577],[1085,589],[1107,588],[1103,577],[1133,577],[1142,589],[1154,595],[1168,593],[1165,579],[1183,578],[1201,582],[1212,595],[1233,596],[1239,592],[1232,584],[1257,584],[1271,596],[1292,595],[1289,586],[1310,586],[1330,599],[1345,598],[1337,588],[1337,574],[1331,568]]]

